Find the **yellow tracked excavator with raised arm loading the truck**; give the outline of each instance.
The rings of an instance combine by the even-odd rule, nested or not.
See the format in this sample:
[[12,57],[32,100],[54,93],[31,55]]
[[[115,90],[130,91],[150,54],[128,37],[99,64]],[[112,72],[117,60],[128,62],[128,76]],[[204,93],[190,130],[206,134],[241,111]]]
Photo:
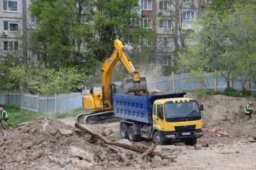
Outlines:
[[146,77],[140,77],[139,71],[133,67],[128,51],[120,40],[114,40],[114,46],[105,62],[102,64],[102,86],[101,91],[93,91],[82,97],[83,107],[93,109],[93,112],[84,113],[76,116],[76,122],[81,124],[95,124],[102,122],[112,122],[114,117],[112,94],[117,91],[117,85],[112,84],[111,74],[118,61],[122,61],[129,72],[129,76],[123,79],[120,84],[125,94],[143,95],[147,94]]

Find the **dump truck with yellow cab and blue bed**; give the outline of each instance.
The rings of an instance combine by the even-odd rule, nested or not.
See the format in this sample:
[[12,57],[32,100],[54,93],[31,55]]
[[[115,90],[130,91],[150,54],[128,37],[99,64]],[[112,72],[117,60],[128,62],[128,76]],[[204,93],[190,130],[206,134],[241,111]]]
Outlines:
[[159,145],[182,142],[194,146],[203,136],[203,104],[184,97],[185,91],[132,96],[114,94],[115,117],[121,138],[132,142],[152,139]]

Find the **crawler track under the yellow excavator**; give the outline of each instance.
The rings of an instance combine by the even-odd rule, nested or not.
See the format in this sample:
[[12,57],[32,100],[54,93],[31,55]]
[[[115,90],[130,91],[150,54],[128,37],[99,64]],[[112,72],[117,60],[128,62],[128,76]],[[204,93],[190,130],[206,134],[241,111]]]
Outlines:
[[117,122],[120,119],[114,116],[114,109],[97,110],[94,112],[82,113],[76,116],[79,124],[94,125],[97,123]]

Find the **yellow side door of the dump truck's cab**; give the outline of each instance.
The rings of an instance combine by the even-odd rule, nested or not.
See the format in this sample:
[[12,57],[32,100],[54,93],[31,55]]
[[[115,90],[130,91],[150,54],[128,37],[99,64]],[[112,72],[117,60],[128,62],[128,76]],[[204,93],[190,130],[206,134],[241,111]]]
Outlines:
[[153,107],[153,126],[158,130],[164,130],[164,109],[163,104],[154,104]]

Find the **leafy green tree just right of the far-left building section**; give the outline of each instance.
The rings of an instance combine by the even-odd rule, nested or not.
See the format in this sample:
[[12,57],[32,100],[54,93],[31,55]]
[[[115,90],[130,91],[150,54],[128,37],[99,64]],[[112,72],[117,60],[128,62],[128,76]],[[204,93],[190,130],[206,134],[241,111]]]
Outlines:
[[38,50],[34,51],[46,68],[58,65],[77,65],[83,58],[81,46],[91,35],[88,24],[81,23],[82,10],[88,1],[54,0],[33,1],[32,14],[40,18],[34,41]]

